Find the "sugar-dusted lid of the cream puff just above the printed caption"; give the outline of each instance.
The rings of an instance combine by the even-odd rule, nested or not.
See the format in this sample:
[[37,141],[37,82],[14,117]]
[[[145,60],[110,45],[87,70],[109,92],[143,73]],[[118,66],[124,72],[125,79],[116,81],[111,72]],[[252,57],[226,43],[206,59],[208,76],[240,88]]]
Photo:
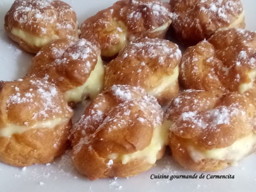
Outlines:
[[166,119],[176,138],[198,149],[212,150],[255,135],[255,107],[247,94],[233,92],[217,97],[208,91],[189,89],[169,105]]

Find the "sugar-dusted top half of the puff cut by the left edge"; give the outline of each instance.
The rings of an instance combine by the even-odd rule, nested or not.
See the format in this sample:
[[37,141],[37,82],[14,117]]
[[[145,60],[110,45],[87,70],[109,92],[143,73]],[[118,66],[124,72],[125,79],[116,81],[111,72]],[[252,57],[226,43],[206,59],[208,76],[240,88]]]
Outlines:
[[11,125],[33,127],[45,122],[42,125],[47,127],[51,120],[69,122],[72,115],[61,91],[45,79],[0,82],[0,133]]

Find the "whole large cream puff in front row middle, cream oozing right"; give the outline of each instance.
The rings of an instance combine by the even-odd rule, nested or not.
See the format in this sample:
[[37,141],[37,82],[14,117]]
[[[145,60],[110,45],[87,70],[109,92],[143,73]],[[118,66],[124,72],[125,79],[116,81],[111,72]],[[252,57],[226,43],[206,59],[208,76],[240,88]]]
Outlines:
[[130,177],[163,156],[167,131],[163,111],[145,90],[113,85],[87,107],[72,130],[72,160],[94,180]]

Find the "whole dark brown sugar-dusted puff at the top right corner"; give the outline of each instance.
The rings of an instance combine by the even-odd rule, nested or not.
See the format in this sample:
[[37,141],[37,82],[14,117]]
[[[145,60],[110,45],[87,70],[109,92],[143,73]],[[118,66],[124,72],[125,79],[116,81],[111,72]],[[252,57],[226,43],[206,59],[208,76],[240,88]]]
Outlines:
[[245,28],[240,0],[171,0],[172,28],[184,45],[195,45],[216,31]]

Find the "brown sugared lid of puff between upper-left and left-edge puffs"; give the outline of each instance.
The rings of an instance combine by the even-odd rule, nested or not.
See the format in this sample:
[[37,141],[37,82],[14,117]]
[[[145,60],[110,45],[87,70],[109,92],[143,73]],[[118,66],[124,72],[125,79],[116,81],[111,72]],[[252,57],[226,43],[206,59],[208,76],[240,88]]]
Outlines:
[[65,92],[87,81],[98,55],[100,50],[85,39],[58,39],[35,55],[28,75],[46,78]]

